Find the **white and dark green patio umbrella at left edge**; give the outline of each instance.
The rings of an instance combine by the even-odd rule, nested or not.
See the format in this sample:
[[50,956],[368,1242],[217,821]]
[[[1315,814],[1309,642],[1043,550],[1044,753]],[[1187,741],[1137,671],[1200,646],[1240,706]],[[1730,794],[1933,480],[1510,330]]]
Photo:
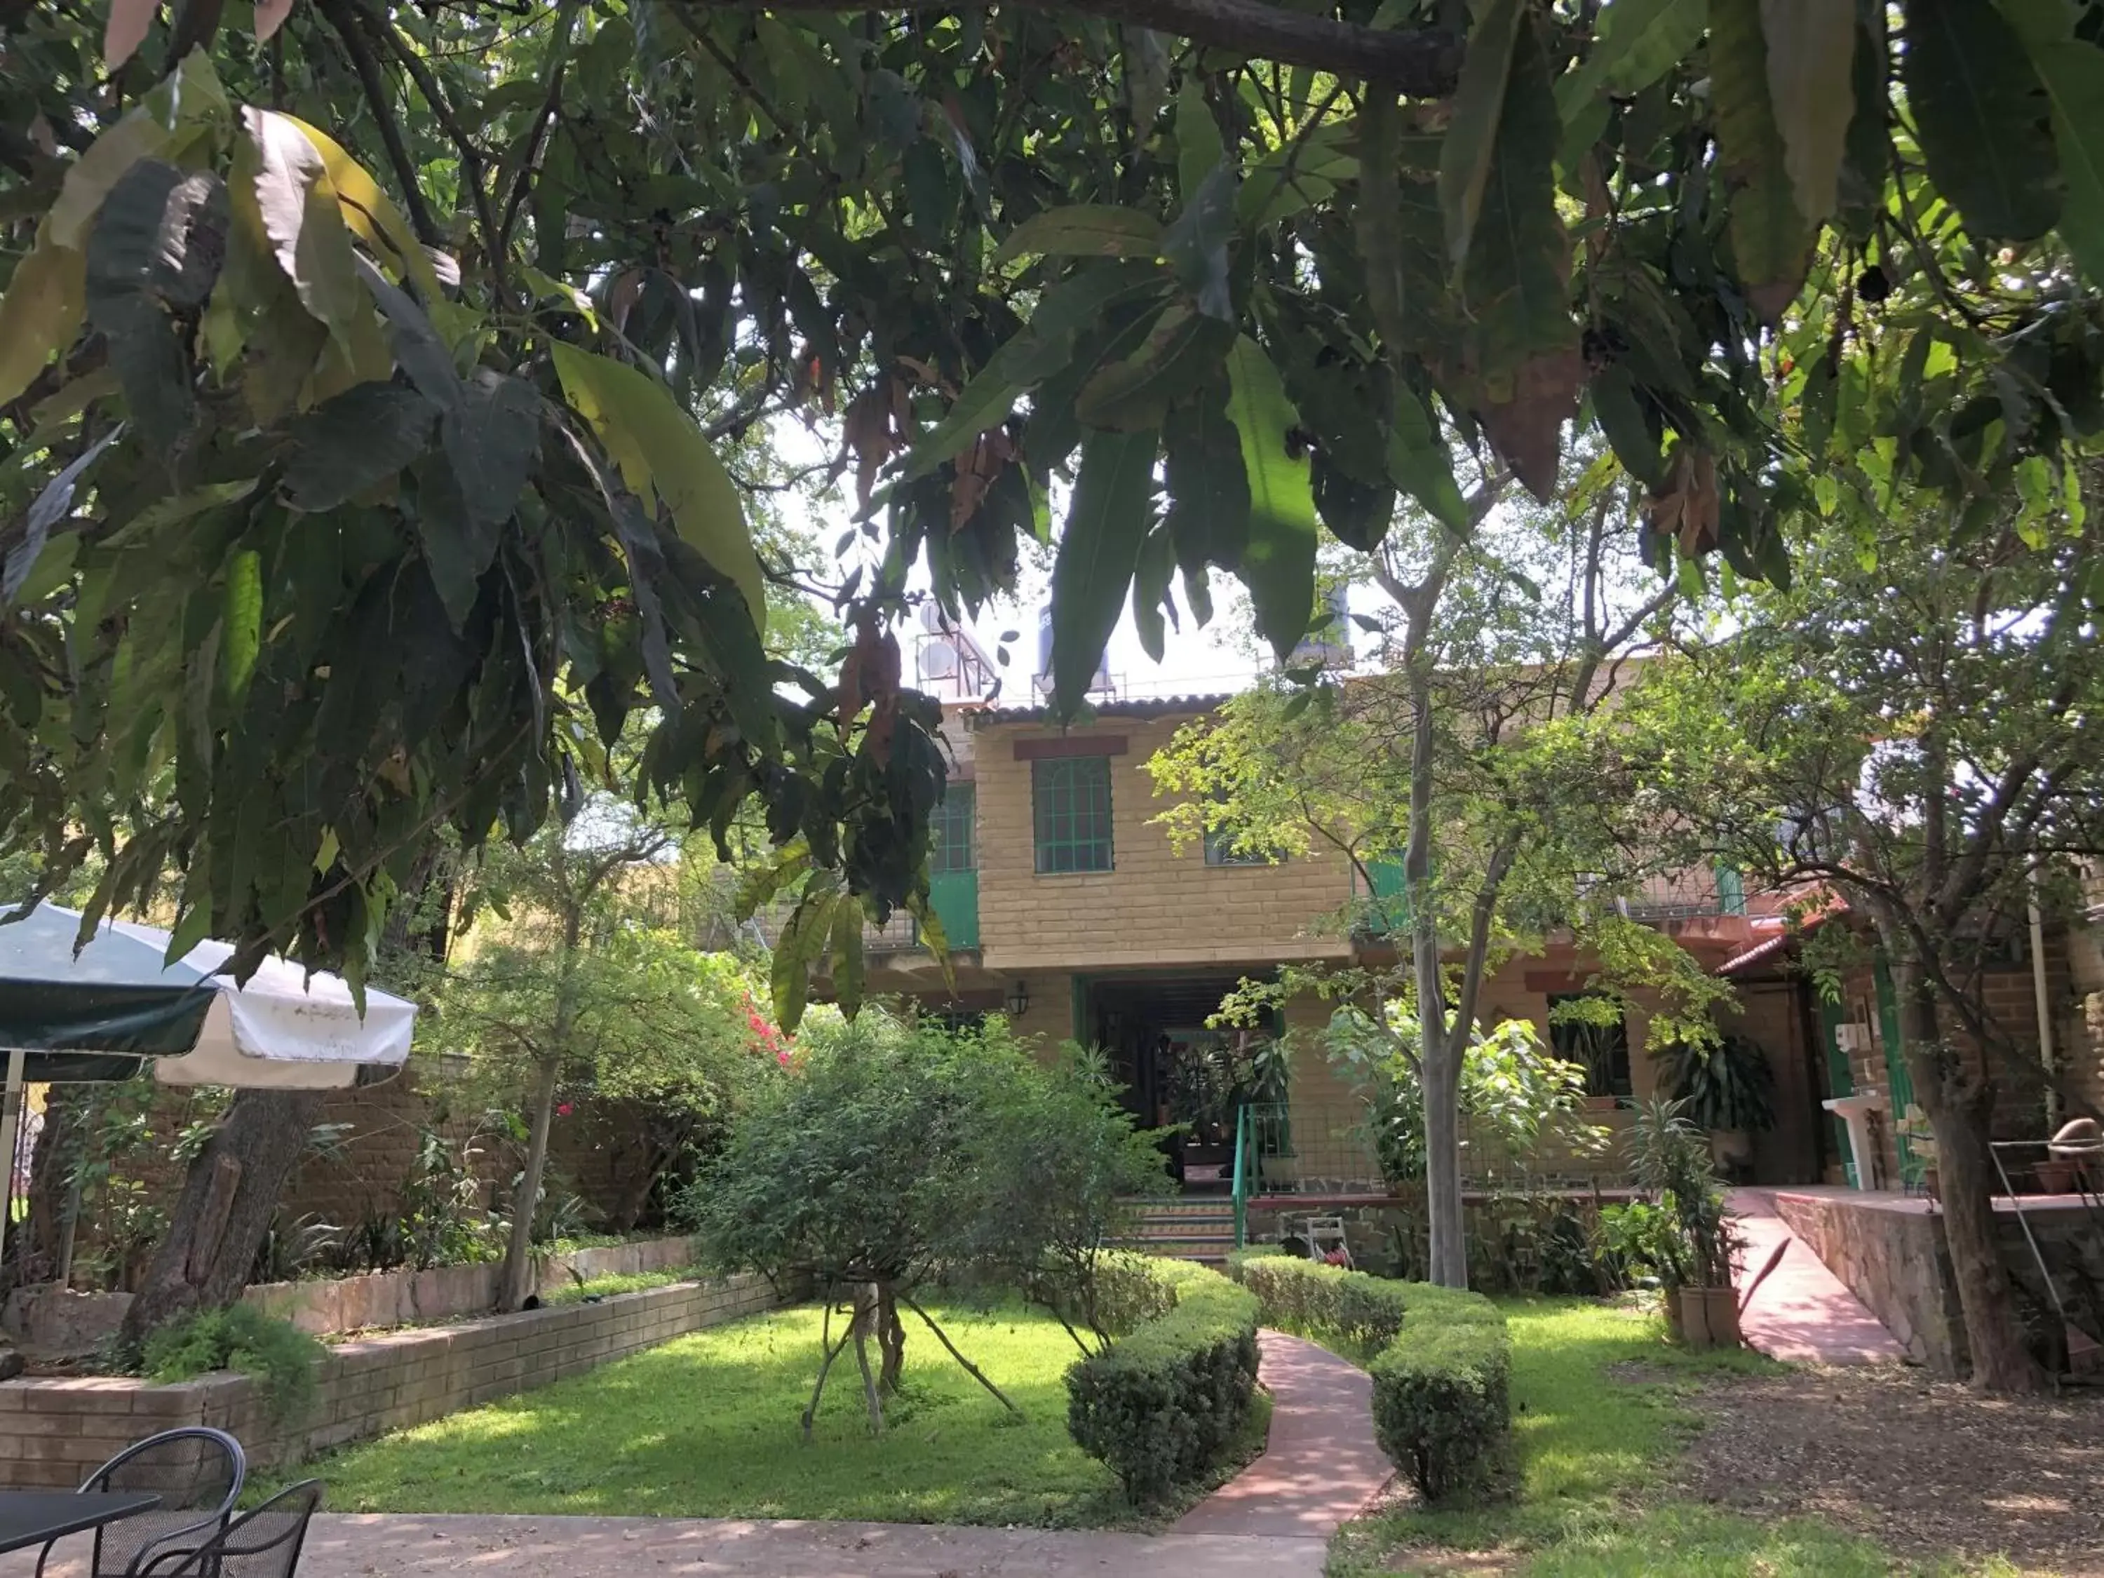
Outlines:
[[198,943],[168,964],[168,932],[105,922],[76,953],[80,913],[40,905],[0,926],[0,1046],[8,1052],[0,1136],[6,1233],[13,1140],[29,1081],[126,1079],[145,1058],[170,1086],[339,1090],[364,1069],[400,1069],[417,1006],[366,989],[358,1012],[343,976],[271,955],[244,985],[215,974],[234,949]]

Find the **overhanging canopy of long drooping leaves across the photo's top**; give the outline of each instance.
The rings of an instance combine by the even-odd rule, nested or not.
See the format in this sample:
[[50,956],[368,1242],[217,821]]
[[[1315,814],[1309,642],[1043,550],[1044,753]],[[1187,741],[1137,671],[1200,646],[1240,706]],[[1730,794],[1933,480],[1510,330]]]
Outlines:
[[[0,4],[0,827],[93,909],[360,968],[412,848],[644,793],[879,915],[940,791],[888,621],[1050,539],[1058,705],[1130,598],[1557,480],[1784,581],[1896,488],[2081,509],[2087,0]],[[726,454],[852,471],[837,677]],[[1788,412],[1791,421],[1784,421]],[[1456,457],[1462,459],[1460,478]],[[852,949],[856,926],[808,928]]]

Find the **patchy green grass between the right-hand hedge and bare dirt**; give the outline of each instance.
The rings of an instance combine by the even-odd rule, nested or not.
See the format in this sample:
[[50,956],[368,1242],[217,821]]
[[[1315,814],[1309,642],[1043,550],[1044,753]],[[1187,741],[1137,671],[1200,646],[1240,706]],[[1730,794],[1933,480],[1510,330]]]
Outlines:
[[[1746,1353],[1685,1353],[1656,1317],[1582,1300],[1509,1300],[1517,1496],[1347,1525],[1330,1578],[1506,1572],[1515,1578],[1883,1578],[1868,1540],[1812,1519],[1757,1521],[1673,1500],[1675,1452],[1700,1429],[1685,1393],[1706,1376],[1774,1370]],[[1610,1374],[1614,1365],[1643,1365]],[[1458,1553],[1471,1553],[1458,1557]],[[1988,1567],[1988,1572],[1997,1572]]]

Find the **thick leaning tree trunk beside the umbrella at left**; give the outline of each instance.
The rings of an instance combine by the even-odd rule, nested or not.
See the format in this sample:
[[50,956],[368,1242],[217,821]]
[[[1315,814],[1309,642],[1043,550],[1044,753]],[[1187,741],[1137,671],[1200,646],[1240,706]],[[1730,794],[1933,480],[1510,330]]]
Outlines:
[[154,1252],[118,1334],[137,1351],[156,1326],[196,1309],[221,1309],[248,1286],[263,1235],[322,1111],[318,1090],[242,1090],[204,1142],[168,1235]]

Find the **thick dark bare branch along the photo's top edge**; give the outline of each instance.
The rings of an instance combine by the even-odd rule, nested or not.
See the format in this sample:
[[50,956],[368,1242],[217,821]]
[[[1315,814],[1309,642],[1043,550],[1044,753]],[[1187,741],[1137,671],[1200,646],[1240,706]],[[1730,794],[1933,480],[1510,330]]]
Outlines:
[[[1313,65],[1349,78],[1387,78],[1412,99],[1443,99],[1460,82],[1464,42],[1439,27],[1382,29],[1309,17],[1262,0],[1010,0],[1029,11],[1073,13],[1130,27],[1153,27],[1210,48],[1231,48],[1286,65]],[[682,0],[682,11],[701,8]],[[728,6],[724,6],[728,8]],[[741,11],[972,11],[955,0],[901,0],[854,6],[839,0],[743,0]]]

